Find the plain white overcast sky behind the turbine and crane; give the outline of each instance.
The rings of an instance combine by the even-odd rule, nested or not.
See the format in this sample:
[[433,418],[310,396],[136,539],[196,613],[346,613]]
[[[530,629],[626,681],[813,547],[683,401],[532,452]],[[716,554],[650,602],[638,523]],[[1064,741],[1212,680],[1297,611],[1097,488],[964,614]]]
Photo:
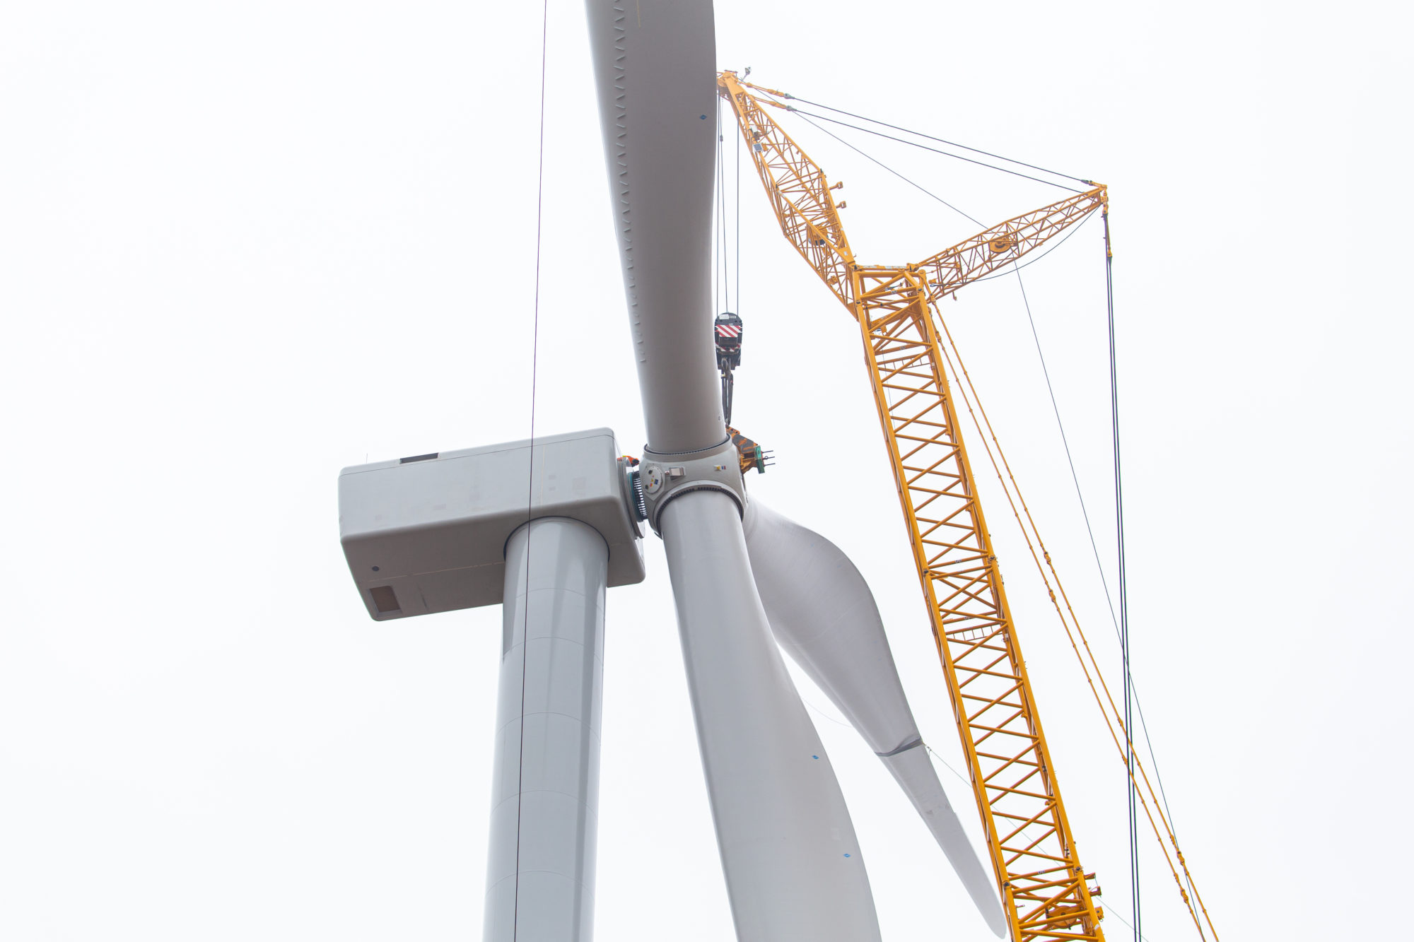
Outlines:
[[[1226,939],[1401,918],[1408,28],[1396,4],[717,4],[725,68],[1110,184],[1134,669]],[[373,624],[335,481],[529,431],[539,66],[536,3],[3,13],[0,936],[479,938],[501,612]],[[550,0],[547,71],[537,429],[638,451],[575,1]],[[976,229],[790,130],[846,181],[861,259]],[[853,137],[987,222],[1059,195]],[[855,559],[960,768],[857,334],[759,190],[741,207],[737,424],[779,457],[748,484]],[[1097,225],[1025,277],[1107,550]],[[1015,280],[943,314],[1113,665]],[[1128,918],[1123,768],[991,506],[1082,860]],[[598,938],[721,941],[656,537],[648,560],[609,595]],[[991,938],[800,683],[885,938]],[[1196,938],[1145,853],[1145,935]]]

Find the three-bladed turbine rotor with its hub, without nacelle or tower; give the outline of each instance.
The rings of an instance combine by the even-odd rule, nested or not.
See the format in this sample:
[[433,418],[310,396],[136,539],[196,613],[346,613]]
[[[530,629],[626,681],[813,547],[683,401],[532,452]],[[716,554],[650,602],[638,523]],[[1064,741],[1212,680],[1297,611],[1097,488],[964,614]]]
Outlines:
[[880,938],[848,809],[776,641],[881,757],[1001,935],[1001,908],[922,747],[868,587],[831,543],[747,498],[727,437],[708,307],[711,0],[587,7],[648,429],[649,522],[667,552],[737,936]]

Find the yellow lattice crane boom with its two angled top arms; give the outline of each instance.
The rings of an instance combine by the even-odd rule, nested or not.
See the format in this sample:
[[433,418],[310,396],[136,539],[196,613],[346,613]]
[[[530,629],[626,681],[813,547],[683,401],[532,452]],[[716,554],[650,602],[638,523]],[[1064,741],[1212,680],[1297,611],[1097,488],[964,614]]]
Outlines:
[[[1107,207],[1104,187],[916,264],[854,262],[824,171],[718,75],[781,229],[854,315],[987,849],[1015,942],[1103,942],[943,368],[933,304]],[[769,89],[761,89],[769,92]],[[775,102],[766,102],[775,105]]]

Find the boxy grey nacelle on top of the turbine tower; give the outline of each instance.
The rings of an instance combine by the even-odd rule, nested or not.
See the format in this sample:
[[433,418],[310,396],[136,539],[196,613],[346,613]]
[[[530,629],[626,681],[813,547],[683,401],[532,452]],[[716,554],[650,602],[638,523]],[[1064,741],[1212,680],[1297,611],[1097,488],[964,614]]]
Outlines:
[[339,542],[368,614],[387,621],[501,604],[506,540],[544,516],[598,530],[611,587],[641,583],[635,506],[614,431],[591,429],[344,468]]

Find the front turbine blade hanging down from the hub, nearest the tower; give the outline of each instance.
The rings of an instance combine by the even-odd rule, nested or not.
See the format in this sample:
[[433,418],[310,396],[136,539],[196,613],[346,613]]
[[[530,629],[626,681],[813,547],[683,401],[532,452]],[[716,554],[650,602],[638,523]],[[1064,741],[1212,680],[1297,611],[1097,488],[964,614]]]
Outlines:
[[752,591],[735,505],[697,491],[663,516],[737,938],[878,942],[854,823]]

